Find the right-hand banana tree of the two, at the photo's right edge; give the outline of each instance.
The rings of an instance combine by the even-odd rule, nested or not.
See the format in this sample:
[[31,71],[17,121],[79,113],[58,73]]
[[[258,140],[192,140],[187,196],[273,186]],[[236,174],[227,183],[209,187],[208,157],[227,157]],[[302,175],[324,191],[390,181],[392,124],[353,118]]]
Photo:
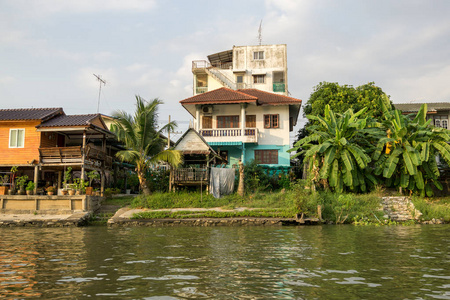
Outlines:
[[[386,100],[386,99],[384,99]],[[386,185],[431,196],[432,185],[442,190],[438,181],[438,154],[450,162],[449,130],[436,128],[426,120],[427,105],[414,115],[403,115],[387,101],[382,105],[381,128],[386,137],[373,153],[375,175],[386,178]]]

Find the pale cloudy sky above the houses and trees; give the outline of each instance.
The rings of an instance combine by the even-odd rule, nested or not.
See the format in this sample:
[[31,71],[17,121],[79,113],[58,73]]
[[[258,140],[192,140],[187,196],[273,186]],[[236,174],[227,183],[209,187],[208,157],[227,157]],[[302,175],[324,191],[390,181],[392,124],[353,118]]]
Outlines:
[[101,113],[159,98],[160,122],[184,131],[192,61],[257,45],[261,20],[263,44],[287,44],[289,92],[304,103],[322,81],[449,102],[449,13],[446,0],[0,0],[0,107],[96,113],[96,74]]

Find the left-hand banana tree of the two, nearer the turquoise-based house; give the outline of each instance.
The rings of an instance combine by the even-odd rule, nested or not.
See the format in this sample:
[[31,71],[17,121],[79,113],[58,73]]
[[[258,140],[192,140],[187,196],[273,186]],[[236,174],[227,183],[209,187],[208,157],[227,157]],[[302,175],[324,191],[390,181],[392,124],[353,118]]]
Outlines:
[[368,185],[377,183],[368,168],[371,158],[360,146],[365,140],[367,118],[359,117],[366,111],[364,108],[353,113],[348,109],[340,115],[326,105],[324,117],[307,116],[318,125],[312,125],[311,134],[289,151],[297,151],[294,157],[305,156],[313,183],[321,182],[325,188],[329,185],[337,192],[366,191]]

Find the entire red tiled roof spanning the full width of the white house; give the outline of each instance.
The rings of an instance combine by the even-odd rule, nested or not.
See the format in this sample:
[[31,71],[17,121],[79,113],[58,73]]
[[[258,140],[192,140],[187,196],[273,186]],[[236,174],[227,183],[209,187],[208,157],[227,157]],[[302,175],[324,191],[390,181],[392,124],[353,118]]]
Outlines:
[[181,104],[230,104],[256,102],[258,105],[301,104],[302,100],[257,89],[230,90],[220,88],[184,100]]

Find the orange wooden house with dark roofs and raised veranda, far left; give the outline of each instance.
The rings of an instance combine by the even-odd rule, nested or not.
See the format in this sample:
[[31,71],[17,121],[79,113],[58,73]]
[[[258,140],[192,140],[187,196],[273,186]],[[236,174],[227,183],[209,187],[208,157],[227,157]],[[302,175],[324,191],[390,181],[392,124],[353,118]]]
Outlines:
[[0,109],[0,172],[18,167],[35,183],[35,192],[43,182],[61,187],[68,167],[80,172],[105,175],[112,169],[117,150],[114,134],[100,114],[66,115],[62,108]]

